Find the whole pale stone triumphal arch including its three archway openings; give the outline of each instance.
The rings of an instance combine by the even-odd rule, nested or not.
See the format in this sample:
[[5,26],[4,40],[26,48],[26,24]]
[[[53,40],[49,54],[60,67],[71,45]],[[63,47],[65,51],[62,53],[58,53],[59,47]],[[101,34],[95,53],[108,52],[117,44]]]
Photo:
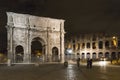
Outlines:
[[12,63],[64,60],[64,20],[7,12],[6,28]]

